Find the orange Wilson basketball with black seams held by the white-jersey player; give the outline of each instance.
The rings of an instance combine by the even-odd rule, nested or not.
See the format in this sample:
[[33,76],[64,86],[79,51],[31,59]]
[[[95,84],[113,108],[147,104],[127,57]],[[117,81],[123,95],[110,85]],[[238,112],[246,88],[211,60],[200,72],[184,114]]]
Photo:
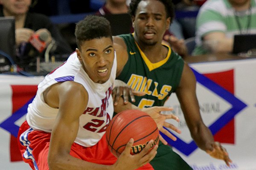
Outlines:
[[108,148],[116,157],[133,138],[134,144],[130,153],[134,155],[140,153],[151,139],[154,140],[151,146],[153,149],[159,143],[159,130],[156,122],[147,113],[139,110],[126,110],[113,117],[106,130],[106,137]]

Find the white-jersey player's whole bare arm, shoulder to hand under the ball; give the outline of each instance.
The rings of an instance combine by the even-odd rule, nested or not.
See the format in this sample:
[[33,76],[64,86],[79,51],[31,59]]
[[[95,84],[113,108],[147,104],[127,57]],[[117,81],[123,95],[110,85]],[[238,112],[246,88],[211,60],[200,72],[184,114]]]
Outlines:
[[[51,170],[119,170],[117,169],[119,167],[123,170],[133,170],[154,158],[156,149],[149,153],[146,152],[147,154],[128,155],[127,152],[130,153],[132,145],[128,145],[125,151],[126,154],[121,154],[119,156],[120,160],[118,159],[119,161],[111,166],[94,164],[70,156],[71,145],[78,133],[79,116],[87,106],[87,91],[81,84],[67,81],[52,85],[44,93],[44,97],[51,107],[59,108],[49,147],[48,163]],[[146,148],[146,151],[149,148]],[[130,163],[125,164],[127,161]]]

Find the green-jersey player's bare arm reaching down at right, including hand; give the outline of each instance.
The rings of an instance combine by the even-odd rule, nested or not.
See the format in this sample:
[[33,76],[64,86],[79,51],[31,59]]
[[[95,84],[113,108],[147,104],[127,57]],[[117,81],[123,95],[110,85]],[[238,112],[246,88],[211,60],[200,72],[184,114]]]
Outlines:
[[210,156],[222,159],[229,165],[228,162],[231,162],[231,160],[228,157],[227,151],[223,149],[223,147],[214,147],[215,142],[212,133],[202,121],[195,89],[195,75],[185,63],[180,86],[177,88],[176,94],[180,101],[180,106],[186,119],[186,124],[191,132],[191,136],[199,148],[207,151],[207,153],[211,153],[208,151],[213,151],[214,153],[209,154]]

